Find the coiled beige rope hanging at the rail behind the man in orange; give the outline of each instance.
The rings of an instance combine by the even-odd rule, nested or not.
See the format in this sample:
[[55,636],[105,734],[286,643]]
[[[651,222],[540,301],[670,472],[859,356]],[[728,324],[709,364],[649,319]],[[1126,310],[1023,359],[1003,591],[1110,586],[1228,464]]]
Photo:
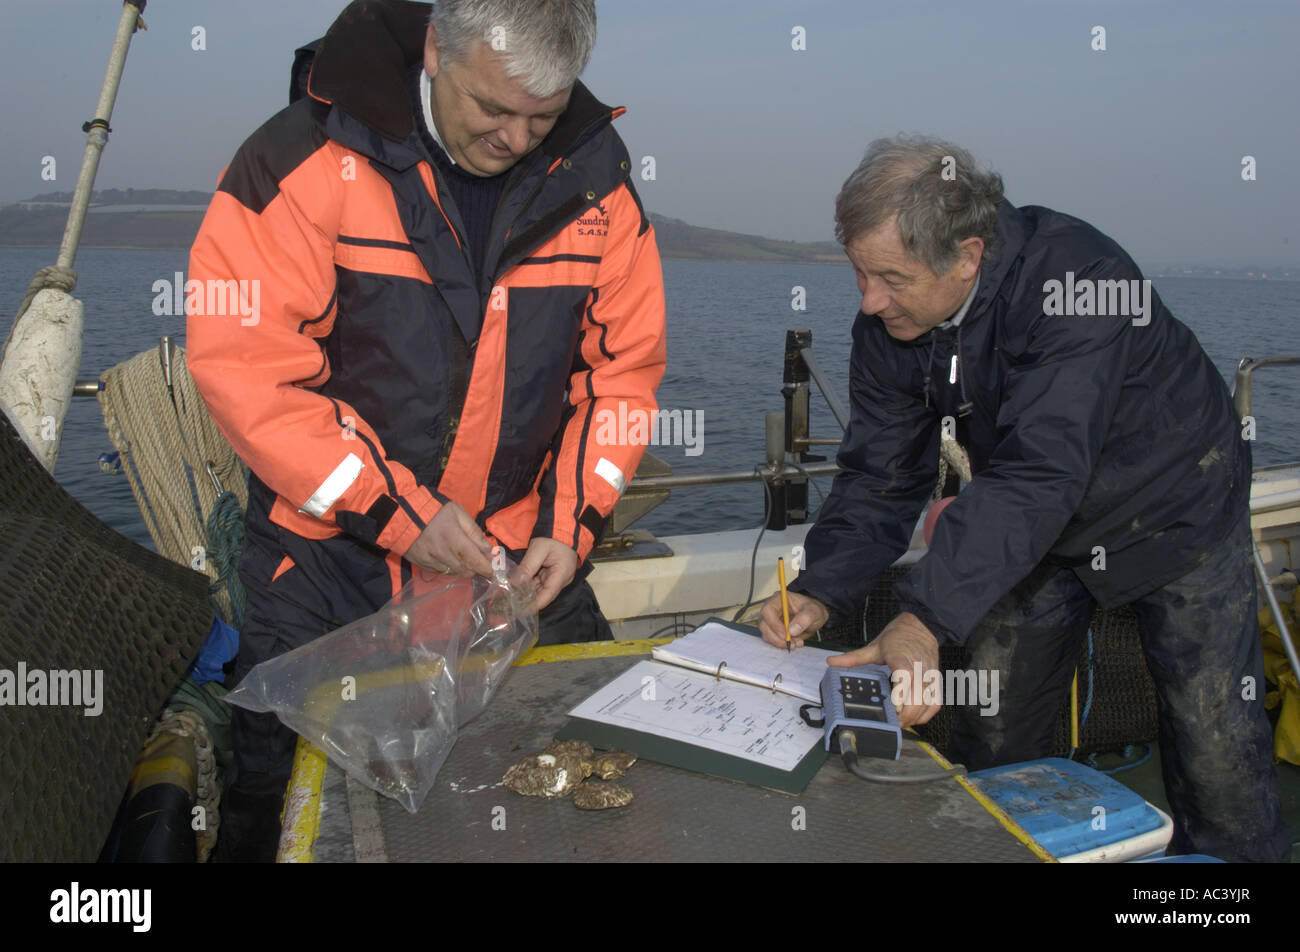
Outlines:
[[105,371],[104,425],[159,554],[207,574],[214,611],[240,628],[247,469],[208,415],[185,351],[174,345],[170,369],[169,388],[155,350]]

